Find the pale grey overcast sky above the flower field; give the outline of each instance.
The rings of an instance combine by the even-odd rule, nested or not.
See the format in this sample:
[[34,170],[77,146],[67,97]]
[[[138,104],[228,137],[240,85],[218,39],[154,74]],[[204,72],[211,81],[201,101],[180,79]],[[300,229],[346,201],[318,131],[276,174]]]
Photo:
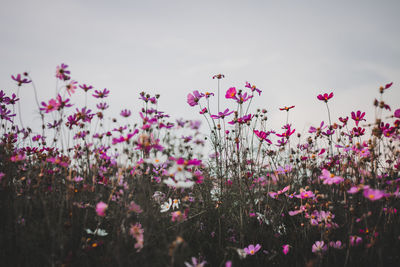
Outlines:
[[[200,118],[187,94],[215,92],[212,76],[223,73],[223,90],[246,81],[263,90],[254,107],[269,111],[272,128],[285,122],[285,105],[296,105],[300,132],[326,120],[316,96],[331,91],[333,117],[361,109],[372,119],[380,85],[394,82],[385,98],[399,107],[399,3],[2,0],[0,89],[15,91],[10,75],[28,71],[47,101],[66,63],[73,80],[111,90],[114,114],[138,111],[144,90],[161,94],[172,116]],[[30,86],[21,97],[24,120],[39,122]]]

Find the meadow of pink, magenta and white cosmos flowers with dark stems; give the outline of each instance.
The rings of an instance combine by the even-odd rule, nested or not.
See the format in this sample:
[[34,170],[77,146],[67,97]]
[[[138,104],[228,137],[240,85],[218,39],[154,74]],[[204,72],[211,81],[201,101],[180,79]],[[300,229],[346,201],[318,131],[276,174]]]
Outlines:
[[[15,93],[0,91],[2,265],[399,265],[400,109],[384,99],[393,83],[378,88],[372,122],[360,110],[331,117],[334,92],[310,96],[326,119],[300,134],[294,105],[270,129],[267,110],[250,108],[263,90],[221,88],[217,74],[214,91],[181,100],[202,133],[145,92],[108,125],[112,91],[71,73],[56,68],[51,99],[28,73],[11,76]],[[22,90],[35,93],[36,130]],[[76,106],[78,94],[96,105]]]

